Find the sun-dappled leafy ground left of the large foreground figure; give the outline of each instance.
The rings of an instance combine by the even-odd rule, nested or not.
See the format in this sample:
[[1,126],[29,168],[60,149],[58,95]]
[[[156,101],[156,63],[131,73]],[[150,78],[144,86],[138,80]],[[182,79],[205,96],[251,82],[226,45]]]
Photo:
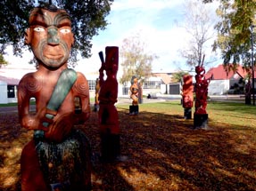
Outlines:
[[20,187],[21,151],[32,133],[21,129],[17,115],[1,114],[0,122],[0,189],[16,191]]

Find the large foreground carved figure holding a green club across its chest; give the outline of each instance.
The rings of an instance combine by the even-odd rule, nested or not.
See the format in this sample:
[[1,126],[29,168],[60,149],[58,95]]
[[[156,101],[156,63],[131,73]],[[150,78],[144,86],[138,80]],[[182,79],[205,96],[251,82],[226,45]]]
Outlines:
[[90,190],[90,147],[73,128],[89,117],[89,89],[86,77],[67,67],[74,43],[69,14],[54,5],[33,9],[25,43],[38,69],[18,89],[21,127],[35,131],[21,154],[21,190]]

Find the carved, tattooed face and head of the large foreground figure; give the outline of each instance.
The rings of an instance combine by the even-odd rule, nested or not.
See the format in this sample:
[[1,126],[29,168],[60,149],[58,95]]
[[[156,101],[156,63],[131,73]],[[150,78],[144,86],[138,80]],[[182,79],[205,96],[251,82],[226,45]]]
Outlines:
[[30,13],[25,43],[30,44],[39,64],[59,68],[70,57],[74,36],[67,12],[36,8]]

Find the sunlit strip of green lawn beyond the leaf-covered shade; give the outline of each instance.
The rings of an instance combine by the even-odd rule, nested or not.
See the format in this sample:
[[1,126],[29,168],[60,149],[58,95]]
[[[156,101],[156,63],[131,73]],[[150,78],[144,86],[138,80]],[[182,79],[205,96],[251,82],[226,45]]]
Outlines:
[[[118,105],[117,107],[127,109],[128,105]],[[184,108],[180,105],[180,101],[141,104],[139,110],[165,115],[184,115]],[[223,123],[234,128],[240,126],[256,128],[256,106],[248,106],[244,103],[210,101],[206,110],[210,125]],[[194,107],[192,112],[194,113]]]

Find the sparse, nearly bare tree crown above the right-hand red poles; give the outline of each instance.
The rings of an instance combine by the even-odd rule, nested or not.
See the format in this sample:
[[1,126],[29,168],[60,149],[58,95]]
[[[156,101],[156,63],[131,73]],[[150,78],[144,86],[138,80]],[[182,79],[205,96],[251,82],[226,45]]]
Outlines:
[[[214,37],[215,20],[210,9],[198,1],[188,1],[184,7],[184,23],[181,27],[186,29],[189,36],[186,47],[179,50],[186,59],[186,65],[195,67],[202,64],[202,56],[211,48],[210,40]],[[207,55],[206,64],[214,60],[214,56]]]

